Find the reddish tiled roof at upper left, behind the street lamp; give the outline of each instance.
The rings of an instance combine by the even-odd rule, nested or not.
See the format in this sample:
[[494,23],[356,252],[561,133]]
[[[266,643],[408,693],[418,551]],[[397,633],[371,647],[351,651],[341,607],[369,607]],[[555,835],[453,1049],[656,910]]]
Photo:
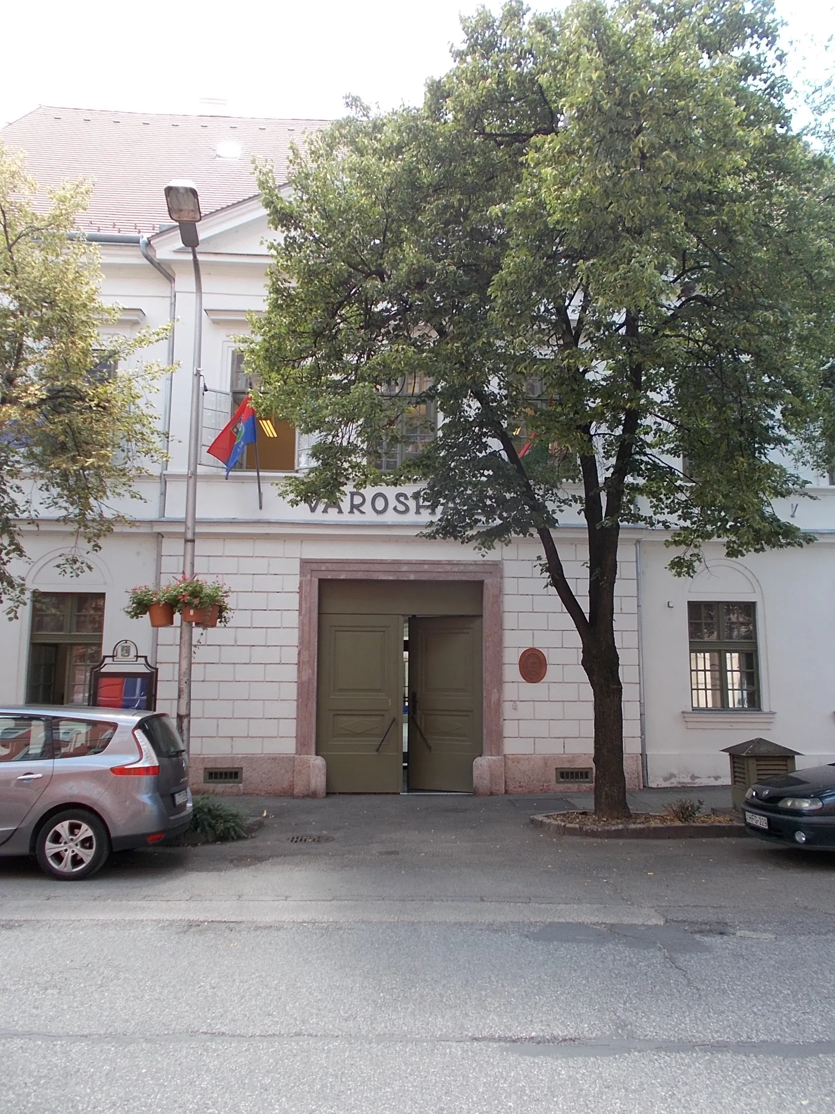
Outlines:
[[[269,159],[281,180],[289,145],[328,123],[41,105],[0,128],[0,140],[26,152],[27,170],[41,189],[68,178],[92,179],[80,227],[149,235],[170,223],[163,187],[171,178],[196,183],[206,216],[257,193],[253,155]],[[234,145],[239,156],[222,157],[235,154]]]

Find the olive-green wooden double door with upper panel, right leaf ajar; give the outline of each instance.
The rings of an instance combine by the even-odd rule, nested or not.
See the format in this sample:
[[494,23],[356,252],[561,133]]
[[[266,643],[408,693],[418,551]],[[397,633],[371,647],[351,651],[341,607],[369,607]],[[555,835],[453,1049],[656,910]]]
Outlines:
[[472,791],[481,635],[480,584],[321,585],[316,751],[328,792]]

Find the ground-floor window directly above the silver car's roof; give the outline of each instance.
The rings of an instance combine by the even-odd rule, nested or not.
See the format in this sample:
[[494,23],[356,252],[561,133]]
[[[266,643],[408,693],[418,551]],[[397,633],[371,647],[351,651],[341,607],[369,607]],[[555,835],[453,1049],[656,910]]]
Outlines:
[[105,597],[91,592],[32,593],[30,704],[86,704],[101,659]]

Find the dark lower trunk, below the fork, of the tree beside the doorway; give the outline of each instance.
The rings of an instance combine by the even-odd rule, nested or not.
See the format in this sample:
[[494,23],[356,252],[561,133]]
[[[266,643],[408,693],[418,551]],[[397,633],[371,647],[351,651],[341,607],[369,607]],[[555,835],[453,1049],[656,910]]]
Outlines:
[[628,817],[623,773],[623,686],[615,632],[590,632],[582,667],[595,701],[595,814],[608,820]]

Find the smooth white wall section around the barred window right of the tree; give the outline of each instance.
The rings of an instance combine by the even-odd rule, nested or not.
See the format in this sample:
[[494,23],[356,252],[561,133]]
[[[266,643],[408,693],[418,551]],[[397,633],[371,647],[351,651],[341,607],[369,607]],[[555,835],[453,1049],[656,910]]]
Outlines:
[[[798,765],[835,761],[835,537],[804,549],[728,560],[707,547],[694,580],[670,575],[669,549],[641,543],[644,695],[650,783],[728,781],[721,749],[756,736],[804,755]],[[688,599],[756,604],[759,712],[692,712]]]

